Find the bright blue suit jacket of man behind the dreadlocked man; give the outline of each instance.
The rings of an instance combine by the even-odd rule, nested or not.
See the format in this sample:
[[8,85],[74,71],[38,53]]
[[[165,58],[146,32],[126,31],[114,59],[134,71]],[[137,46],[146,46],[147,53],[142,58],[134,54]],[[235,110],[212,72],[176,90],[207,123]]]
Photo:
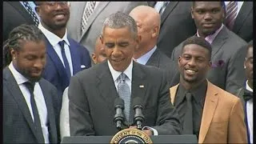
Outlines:
[[[88,50],[78,42],[75,42],[74,39],[68,38],[70,42],[70,54],[73,64],[73,74],[78,73],[78,71],[87,69],[91,66],[90,55]],[[63,91],[70,84],[70,79],[66,74],[65,67],[62,64],[58,54],[55,52],[53,46],[46,38],[46,67],[43,71],[42,77],[46,78],[47,81],[51,82],[56,86],[58,90],[58,96],[62,98]],[[81,66],[85,66],[82,68]],[[62,102],[62,99],[61,99]]]

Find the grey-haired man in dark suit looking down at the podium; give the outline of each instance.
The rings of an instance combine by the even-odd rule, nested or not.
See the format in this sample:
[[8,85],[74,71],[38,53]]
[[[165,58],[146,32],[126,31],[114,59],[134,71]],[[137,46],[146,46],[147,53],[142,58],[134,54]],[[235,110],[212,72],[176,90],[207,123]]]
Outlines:
[[140,42],[134,19],[121,12],[111,14],[103,23],[101,41],[107,61],[71,78],[68,91],[70,135],[116,134],[116,98],[124,100],[124,128],[134,127],[131,106],[136,97],[143,99],[146,134],[180,134],[178,114],[170,104],[163,71],[133,62],[134,50]]

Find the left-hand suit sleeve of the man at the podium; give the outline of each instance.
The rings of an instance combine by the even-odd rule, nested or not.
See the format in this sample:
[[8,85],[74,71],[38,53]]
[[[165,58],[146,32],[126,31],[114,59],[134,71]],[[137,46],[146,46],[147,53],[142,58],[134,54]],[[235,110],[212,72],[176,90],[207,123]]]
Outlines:
[[73,76],[70,80],[68,97],[70,99],[70,136],[95,135],[86,93],[77,76]]

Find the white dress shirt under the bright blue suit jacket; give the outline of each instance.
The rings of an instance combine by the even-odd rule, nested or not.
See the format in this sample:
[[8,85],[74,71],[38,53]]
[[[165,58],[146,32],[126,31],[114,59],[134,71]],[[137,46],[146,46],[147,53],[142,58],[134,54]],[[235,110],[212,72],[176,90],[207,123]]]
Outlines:
[[50,32],[47,30],[45,27],[42,26],[41,22],[38,25],[38,28],[42,31],[43,34],[45,34],[46,38],[50,42],[51,46],[54,47],[55,52],[58,54],[58,58],[62,61],[62,65],[65,67],[63,58],[62,58],[62,49],[61,46],[58,45],[58,42],[60,41],[65,41],[64,42],[64,49],[65,49],[65,54],[66,54],[66,59],[69,62],[70,65],[70,74],[71,76],[73,75],[73,65],[72,65],[72,59],[71,59],[71,54],[70,54],[70,42],[67,39],[67,30],[63,36],[63,38],[59,38],[56,34]]

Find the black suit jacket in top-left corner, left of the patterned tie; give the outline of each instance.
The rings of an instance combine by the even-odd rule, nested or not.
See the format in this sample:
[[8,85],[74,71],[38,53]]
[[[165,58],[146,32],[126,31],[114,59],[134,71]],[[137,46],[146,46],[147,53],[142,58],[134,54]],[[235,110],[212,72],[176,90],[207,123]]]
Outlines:
[[8,39],[10,31],[22,24],[34,24],[33,19],[20,2],[3,2],[2,24],[3,41]]

